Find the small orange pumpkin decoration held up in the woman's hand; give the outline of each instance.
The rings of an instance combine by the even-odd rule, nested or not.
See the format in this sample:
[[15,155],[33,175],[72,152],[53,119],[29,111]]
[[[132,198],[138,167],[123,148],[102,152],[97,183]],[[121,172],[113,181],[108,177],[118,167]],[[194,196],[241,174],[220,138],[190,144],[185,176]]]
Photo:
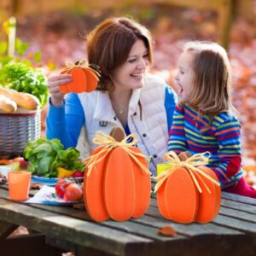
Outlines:
[[61,74],[70,73],[73,81],[69,84],[60,85],[60,90],[62,93],[81,93],[96,90],[100,73],[90,68],[87,61],[79,61],[76,64],[67,62],[66,65],[67,67],[61,71]]

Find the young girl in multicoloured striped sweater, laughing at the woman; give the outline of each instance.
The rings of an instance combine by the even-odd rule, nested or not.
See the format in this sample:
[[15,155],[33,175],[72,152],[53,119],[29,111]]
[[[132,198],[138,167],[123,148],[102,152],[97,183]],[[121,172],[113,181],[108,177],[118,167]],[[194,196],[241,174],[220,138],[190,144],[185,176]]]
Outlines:
[[211,152],[208,167],[222,190],[256,198],[242,177],[240,123],[230,96],[230,61],[220,45],[189,42],[175,77],[180,101],[173,116],[168,150]]

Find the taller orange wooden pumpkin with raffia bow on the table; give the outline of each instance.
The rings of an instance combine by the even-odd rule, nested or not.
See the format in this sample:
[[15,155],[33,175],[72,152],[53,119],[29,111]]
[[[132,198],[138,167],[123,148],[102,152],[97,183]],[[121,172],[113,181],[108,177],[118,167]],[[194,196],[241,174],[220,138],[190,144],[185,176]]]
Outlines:
[[136,137],[118,142],[98,131],[93,141],[100,146],[85,160],[84,172],[84,205],[90,218],[97,222],[140,218],[148,209],[151,183],[147,160],[133,146]]

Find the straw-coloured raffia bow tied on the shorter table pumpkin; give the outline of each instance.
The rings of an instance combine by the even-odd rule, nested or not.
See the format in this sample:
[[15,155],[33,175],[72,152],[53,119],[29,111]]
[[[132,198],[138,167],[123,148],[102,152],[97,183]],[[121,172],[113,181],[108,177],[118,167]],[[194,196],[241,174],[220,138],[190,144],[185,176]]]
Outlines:
[[[215,183],[216,185],[220,186],[219,183],[209,175],[207,175],[205,172],[202,172],[201,169],[195,167],[195,166],[206,166],[208,164],[208,158],[211,154],[209,152],[203,153],[203,154],[194,154],[191,157],[189,157],[187,160],[180,160],[177,156],[177,154],[173,151],[170,151],[165,154],[164,160],[167,162],[167,164],[173,164],[174,166],[167,168],[165,171],[160,172],[160,175],[156,177],[157,183],[154,187],[154,193],[160,189],[160,186],[166,181],[166,179],[170,176],[171,172],[176,169],[177,167],[184,167],[192,177],[195,186],[201,193],[201,186],[198,183],[196,177],[201,179],[201,182],[204,184],[205,188],[207,189],[207,192],[211,194],[211,190],[207,187],[207,184],[202,180],[201,176],[198,174],[200,173],[202,176],[206,177],[212,183]],[[196,176],[196,177],[195,177]]]

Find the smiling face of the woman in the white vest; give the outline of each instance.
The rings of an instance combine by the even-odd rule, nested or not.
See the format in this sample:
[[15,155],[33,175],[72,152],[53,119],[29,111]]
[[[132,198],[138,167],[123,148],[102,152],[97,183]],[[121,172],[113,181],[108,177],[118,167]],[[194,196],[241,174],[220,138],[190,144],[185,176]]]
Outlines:
[[114,70],[112,74],[114,88],[121,90],[142,88],[148,65],[148,49],[143,40],[139,39],[132,45],[125,63]]

